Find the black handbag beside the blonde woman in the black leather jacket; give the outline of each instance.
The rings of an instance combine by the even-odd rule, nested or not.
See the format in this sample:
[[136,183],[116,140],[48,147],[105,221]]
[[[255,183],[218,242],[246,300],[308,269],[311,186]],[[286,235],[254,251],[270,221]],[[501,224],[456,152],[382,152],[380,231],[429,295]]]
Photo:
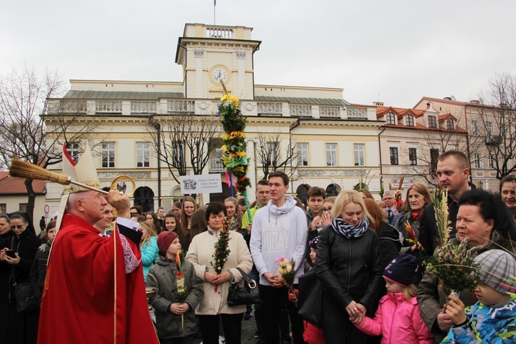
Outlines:
[[323,283],[312,268],[299,277],[297,315],[317,327],[322,326]]

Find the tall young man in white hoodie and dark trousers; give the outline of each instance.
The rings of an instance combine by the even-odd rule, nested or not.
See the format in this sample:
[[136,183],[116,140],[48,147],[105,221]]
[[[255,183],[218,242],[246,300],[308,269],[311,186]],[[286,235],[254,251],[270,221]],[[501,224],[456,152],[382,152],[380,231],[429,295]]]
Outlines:
[[303,342],[303,321],[295,305],[288,301],[288,288],[283,284],[276,260],[285,256],[296,262],[296,279],[303,275],[303,259],[308,226],[303,210],[288,191],[288,175],[274,171],[269,175],[270,200],[260,208],[252,222],[250,250],[260,275],[262,319],[266,343],[279,343],[281,304],[286,304],[292,325],[294,343]]

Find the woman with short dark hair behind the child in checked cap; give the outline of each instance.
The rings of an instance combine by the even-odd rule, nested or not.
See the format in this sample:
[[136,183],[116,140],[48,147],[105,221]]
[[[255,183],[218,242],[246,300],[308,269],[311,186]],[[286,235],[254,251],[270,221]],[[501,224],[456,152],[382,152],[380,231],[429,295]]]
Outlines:
[[[473,189],[462,194],[455,224],[457,235],[449,242],[456,245],[468,238],[469,248],[482,247],[479,253],[502,248],[515,253],[516,243],[504,239],[497,231],[501,217],[500,206],[503,204],[499,197],[488,191]],[[452,325],[450,317],[442,312],[446,297],[438,288],[436,279],[427,272],[419,284],[418,303],[421,318],[436,336],[436,343],[442,341]],[[471,290],[462,290],[460,299],[466,306],[475,303]]]

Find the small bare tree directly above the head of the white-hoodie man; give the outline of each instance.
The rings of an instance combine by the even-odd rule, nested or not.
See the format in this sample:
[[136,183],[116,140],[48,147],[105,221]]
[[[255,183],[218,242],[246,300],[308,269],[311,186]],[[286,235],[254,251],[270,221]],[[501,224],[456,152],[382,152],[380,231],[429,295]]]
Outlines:
[[282,149],[282,143],[279,132],[258,135],[256,160],[264,171],[264,179],[273,171],[281,170],[292,176],[297,170],[298,154],[295,142],[289,136],[285,149]]

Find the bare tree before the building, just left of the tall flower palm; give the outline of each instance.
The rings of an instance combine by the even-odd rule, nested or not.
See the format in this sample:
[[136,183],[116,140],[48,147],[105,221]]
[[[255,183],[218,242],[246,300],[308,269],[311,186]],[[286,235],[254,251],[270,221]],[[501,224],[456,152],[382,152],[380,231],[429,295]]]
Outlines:
[[202,174],[217,147],[214,138],[221,130],[217,116],[196,116],[193,112],[154,116],[147,127],[155,156],[178,184],[179,177],[187,175],[189,169],[194,175]]

